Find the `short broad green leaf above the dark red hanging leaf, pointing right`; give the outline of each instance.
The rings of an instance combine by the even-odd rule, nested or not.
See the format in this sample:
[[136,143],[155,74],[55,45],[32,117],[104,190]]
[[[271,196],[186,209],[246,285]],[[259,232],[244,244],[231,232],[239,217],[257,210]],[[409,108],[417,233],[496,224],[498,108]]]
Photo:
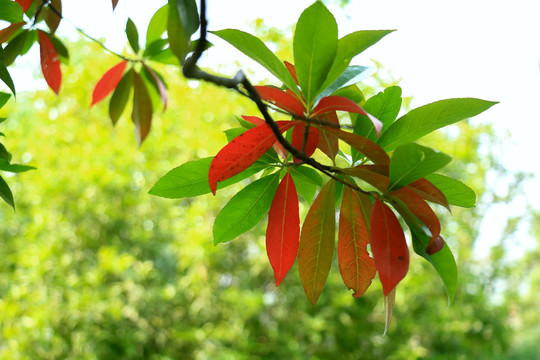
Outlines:
[[399,146],[390,161],[390,185],[388,191],[408,185],[429,175],[445,165],[452,158],[425,146],[409,143]]

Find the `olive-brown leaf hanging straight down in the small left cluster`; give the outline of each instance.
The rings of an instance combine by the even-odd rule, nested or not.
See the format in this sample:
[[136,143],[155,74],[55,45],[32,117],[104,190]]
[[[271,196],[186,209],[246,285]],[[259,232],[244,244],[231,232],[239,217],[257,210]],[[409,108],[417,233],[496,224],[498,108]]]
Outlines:
[[144,84],[144,80],[137,72],[133,72],[133,111],[131,112],[131,120],[135,124],[135,137],[139,146],[148,136],[150,127],[152,126],[152,100],[148,94],[148,89]]

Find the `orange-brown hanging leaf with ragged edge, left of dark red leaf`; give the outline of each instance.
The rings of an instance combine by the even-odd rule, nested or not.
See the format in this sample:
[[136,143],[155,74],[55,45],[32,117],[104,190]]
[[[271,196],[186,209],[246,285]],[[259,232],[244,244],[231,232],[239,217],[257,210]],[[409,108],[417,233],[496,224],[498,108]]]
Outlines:
[[[364,204],[371,205],[366,195],[359,196],[367,200]],[[337,253],[341,277],[345,285],[354,290],[354,297],[360,297],[366,292],[377,272],[375,262],[367,252],[369,233],[364,219],[357,195],[347,187],[339,215]]]

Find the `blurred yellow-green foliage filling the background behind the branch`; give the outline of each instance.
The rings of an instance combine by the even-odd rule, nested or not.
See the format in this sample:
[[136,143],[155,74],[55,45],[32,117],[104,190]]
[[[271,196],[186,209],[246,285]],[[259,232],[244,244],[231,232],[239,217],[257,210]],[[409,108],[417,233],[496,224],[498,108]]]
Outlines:
[[[113,129],[106,104],[89,109],[97,74],[116,59],[88,45],[72,53],[60,97],[20,94],[3,109],[6,145],[38,170],[9,179],[16,213],[0,207],[1,359],[534,358],[526,347],[533,335],[516,341],[522,311],[535,326],[534,297],[520,308],[509,307],[504,294],[495,301],[492,275],[507,265],[482,264],[472,252],[491,199],[485,177],[496,169],[496,159],[476,151],[493,142],[488,127],[464,122],[428,140],[454,157],[450,175],[480,195],[476,209],[444,215],[460,267],[454,305],[446,308],[437,274],[413,256],[382,337],[378,281],[354,299],[331,271],[311,308],[296,266],[275,287],[264,222],[212,244],[213,220],[238,188],[183,201],[147,194],[172,167],[215,154],[225,143],[221,131],[235,124],[234,115],[256,114],[253,105],[163,68],[169,110],[155,117],[138,149],[127,111]],[[522,271],[535,271],[530,266]]]

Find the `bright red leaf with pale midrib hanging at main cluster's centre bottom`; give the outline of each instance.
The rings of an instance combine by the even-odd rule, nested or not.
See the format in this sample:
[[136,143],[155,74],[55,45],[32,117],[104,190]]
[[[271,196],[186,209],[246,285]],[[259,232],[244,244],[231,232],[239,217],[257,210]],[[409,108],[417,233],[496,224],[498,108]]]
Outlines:
[[276,286],[294,264],[300,238],[298,194],[291,174],[287,171],[278,186],[268,212],[266,252],[274,269]]

